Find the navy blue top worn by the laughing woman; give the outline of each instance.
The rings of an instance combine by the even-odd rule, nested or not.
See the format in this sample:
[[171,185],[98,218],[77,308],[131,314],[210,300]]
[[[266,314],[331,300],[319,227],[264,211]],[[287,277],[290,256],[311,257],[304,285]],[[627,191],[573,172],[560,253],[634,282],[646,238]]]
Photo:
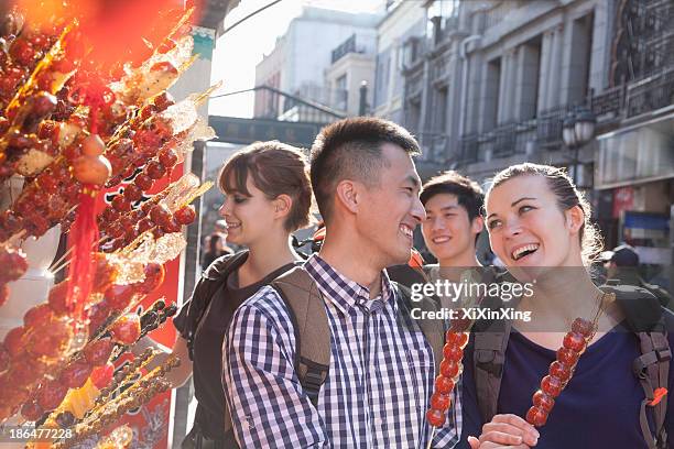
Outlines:
[[[673,333],[668,340],[674,348]],[[469,448],[468,436],[479,436],[483,424],[476,402],[471,347],[472,343],[464,360],[464,431],[457,448]],[[513,331],[506,351],[497,413],[526,416],[532,406],[531,397],[555,355],[555,351]],[[648,448],[639,424],[644,393],[632,373],[632,362],[639,355],[638,337],[622,327],[591,344],[555,401],[547,423],[539,429],[541,438],[536,449]],[[670,369],[668,379],[665,427],[670,429],[668,447],[674,449],[674,366]]]

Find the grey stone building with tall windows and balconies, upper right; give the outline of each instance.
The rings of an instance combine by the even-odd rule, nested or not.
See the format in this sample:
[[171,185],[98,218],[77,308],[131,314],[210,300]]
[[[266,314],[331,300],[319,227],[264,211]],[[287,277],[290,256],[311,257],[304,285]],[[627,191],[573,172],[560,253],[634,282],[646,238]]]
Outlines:
[[[590,196],[607,245],[628,241],[645,263],[671,265],[674,3],[423,8],[425,32],[403,42],[401,120],[423,145],[422,176],[456,168],[488,182],[524,161],[566,166]],[[569,147],[565,119],[588,112],[596,139]]]

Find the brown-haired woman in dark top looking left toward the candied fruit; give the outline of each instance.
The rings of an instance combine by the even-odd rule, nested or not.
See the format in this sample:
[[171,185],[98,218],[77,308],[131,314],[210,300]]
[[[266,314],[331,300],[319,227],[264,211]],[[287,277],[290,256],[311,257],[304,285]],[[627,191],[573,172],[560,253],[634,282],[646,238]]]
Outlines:
[[[172,353],[181,365],[167,379],[177,387],[193,375],[198,401],[194,427],[182,449],[238,448],[221,381],[222,339],[237,307],[301,260],[290,234],[311,221],[306,160],[294,146],[256,142],[238,151],[222,166],[218,186],[225,194],[219,212],[226,220],[227,241],[248,250],[216,259],[173,319],[178,336],[173,350],[162,357]],[[220,238],[215,233],[211,242]],[[148,340],[134,351],[156,347]]]

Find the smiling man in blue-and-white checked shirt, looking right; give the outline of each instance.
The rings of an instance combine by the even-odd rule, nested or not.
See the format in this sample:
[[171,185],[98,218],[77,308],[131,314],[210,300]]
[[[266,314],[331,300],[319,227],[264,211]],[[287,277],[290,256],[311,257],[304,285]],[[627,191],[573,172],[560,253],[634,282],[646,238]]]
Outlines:
[[[222,383],[244,448],[426,448],[434,355],[402,322],[385,267],[405,263],[425,217],[412,156],[414,138],[380,119],[325,128],[312,149],[312,187],[327,233],[304,269],[325,300],[331,346],[314,406],[296,375],[289,310],[267,286],[236,311],[222,346]],[[442,357],[442,354],[436,354]],[[453,448],[460,401],[432,447]]]

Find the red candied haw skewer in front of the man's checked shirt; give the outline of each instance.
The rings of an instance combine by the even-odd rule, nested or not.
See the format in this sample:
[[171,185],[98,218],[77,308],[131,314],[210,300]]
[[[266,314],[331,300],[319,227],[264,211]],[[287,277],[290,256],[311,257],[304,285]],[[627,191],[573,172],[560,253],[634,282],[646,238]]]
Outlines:
[[445,424],[446,413],[452,403],[450,393],[458,383],[463,371],[461,360],[464,348],[468,344],[468,332],[457,332],[449,329],[445,336],[443,361],[439,365],[439,375],[435,379],[435,392],[431,396],[431,408],[426,412],[426,419],[433,427]]

